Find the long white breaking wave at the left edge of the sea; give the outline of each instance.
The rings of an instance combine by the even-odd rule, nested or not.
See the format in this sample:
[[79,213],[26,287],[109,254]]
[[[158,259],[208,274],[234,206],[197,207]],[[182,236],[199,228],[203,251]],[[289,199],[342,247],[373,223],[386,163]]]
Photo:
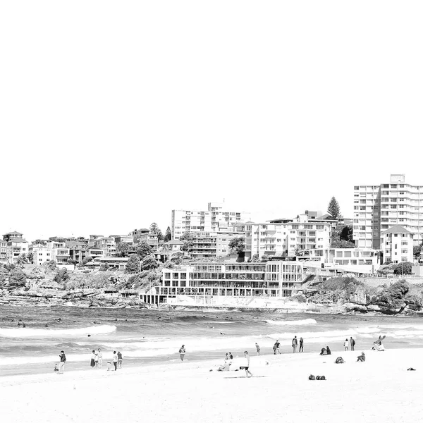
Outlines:
[[83,336],[112,333],[116,326],[102,324],[79,329],[1,329],[0,338],[57,338],[59,336]]

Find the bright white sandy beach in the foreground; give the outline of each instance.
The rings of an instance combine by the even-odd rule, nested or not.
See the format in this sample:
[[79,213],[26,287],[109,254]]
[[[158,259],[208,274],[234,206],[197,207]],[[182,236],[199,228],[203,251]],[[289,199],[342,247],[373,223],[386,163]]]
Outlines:
[[364,350],[367,361],[355,362],[361,351],[252,356],[249,379],[216,372],[216,360],[190,362],[189,351],[183,363],[118,372],[68,363],[63,375],[0,377],[1,423],[421,422],[423,350]]

